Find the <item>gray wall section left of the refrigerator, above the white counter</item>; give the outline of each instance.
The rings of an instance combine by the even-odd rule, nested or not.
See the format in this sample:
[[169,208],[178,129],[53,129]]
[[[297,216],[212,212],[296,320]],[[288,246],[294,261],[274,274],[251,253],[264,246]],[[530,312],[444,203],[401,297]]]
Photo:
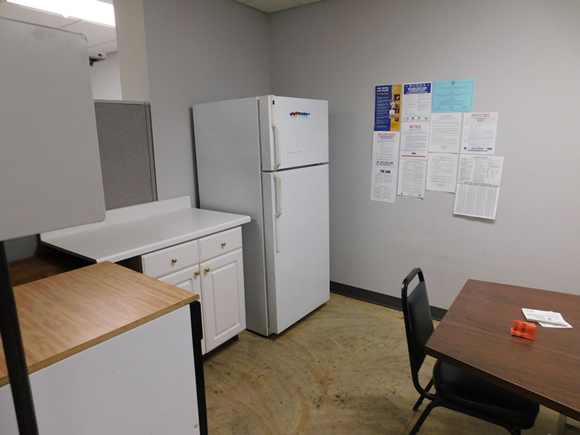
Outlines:
[[190,107],[269,92],[267,16],[231,0],[144,0],[143,16],[158,197],[194,202]]

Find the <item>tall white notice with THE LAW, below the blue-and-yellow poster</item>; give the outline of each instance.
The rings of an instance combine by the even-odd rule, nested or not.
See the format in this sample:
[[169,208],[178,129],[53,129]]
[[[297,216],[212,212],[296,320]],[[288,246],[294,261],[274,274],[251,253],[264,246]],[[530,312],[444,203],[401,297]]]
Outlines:
[[400,132],[374,132],[372,137],[371,200],[395,202]]

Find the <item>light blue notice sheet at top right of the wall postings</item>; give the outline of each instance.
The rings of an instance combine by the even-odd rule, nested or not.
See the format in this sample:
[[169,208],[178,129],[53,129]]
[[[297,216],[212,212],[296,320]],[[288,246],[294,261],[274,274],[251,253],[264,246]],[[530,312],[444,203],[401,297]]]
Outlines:
[[432,112],[470,112],[473,110],[475,79],[433,82]]

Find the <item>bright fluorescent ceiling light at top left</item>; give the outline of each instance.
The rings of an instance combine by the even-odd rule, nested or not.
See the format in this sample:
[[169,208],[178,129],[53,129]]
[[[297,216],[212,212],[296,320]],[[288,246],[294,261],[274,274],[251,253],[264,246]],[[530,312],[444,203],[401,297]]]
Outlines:
[[92,21],[115,27],[115,9],[99,0],[6,0],[8,3],[44,10],[66,18]]

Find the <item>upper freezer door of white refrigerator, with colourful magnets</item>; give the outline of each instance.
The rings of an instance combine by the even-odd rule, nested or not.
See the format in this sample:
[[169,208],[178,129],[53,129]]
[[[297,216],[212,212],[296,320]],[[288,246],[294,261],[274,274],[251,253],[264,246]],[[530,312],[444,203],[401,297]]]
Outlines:
[[328,162],[328,102],[260,97],[260,141],[264,171]]

